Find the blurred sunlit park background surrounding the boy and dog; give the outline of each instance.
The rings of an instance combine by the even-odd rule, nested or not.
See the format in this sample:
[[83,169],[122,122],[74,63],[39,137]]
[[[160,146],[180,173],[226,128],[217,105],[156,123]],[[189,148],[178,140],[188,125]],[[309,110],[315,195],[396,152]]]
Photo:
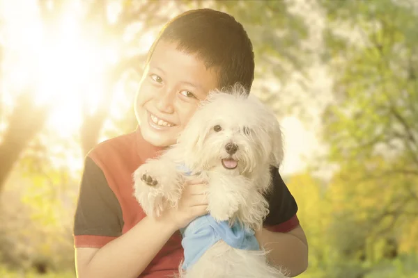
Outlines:
[[304,278],[418,277],[418,1],[0,0],[0,277],[75,277],[84,155],[132,131],[172,17],[231,13],[277,111]]

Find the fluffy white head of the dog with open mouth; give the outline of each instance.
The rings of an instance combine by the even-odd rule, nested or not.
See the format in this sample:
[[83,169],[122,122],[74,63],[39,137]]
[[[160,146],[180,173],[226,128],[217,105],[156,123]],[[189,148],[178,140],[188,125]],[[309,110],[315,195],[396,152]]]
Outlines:
[[274,113],[240,86],[210,92],[178,139],[192,172],[251,174],[283,160],[281,129]]

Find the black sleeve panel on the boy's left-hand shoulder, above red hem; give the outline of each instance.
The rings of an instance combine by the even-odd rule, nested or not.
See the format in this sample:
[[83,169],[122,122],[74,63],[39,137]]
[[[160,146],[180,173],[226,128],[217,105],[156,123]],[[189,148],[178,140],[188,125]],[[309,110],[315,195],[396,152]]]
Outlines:
[[100,167],[86,158],[75,211],[74,235],[121,236],[121,205]]

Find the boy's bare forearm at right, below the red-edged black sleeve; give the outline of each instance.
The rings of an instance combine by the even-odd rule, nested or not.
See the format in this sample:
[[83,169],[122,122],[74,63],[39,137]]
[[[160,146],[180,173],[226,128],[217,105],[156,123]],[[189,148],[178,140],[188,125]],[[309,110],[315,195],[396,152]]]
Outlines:
[[268,259],[278,268],[284,268],[289,277],[300,275],[308,268],[308,243],[300,225],[286,233],[261,229],[256,231],[258,243],[271,250]]

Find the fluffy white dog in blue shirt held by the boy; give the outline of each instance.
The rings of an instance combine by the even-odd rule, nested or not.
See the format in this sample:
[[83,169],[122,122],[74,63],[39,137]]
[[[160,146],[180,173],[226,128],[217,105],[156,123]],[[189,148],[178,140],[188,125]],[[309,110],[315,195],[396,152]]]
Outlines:
[[[212,223],[210,231],[223,229],[220,234],[232,236],[241,233],[241,240],[254,246],[254,230],[262,227],[268,214],[263,193],[270,189],[270,165],[279,167],[283,154],[281,129],[274,113],[235,85],[229,91],[211,92],[177,144],[134,172],[134,195],[151,216],[160,215],[167,206],[177,206],[189,177],[201,177],[208,183],[208,219],[198,218],[183,231],[185,259],[190,252],[200,255],[187,269],[185,263],[180,265],[180,277],[285,277],[268,264],[267,251],[258,243],[257,248],[232,247],[218,233],[219,240],[211,236],[210,246],[199,251],[189,249],[199,248],[201,242],[185,241],[206,229],[204,224]],[[219,228],[214,222],[215,226],[227,224]]]

